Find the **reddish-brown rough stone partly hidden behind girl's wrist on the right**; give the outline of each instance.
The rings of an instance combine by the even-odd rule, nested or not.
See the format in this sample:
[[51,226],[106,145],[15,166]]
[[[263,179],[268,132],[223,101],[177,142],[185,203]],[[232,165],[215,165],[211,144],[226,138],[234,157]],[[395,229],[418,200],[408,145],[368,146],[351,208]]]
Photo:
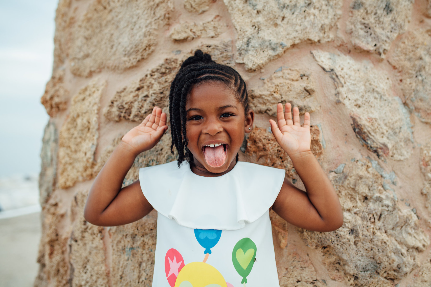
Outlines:
[[[310,133],[311,151],[317,159],[320,159],[323,155],[323,147],[319,139],[320,130],[316,126],[311,126]],[[257,164],[286,170],[286,175],[293,179],[294,183],[299,179],[292,160],[275,141],[270,130],[254,127],[247,138],[245,152],[253,156]]]

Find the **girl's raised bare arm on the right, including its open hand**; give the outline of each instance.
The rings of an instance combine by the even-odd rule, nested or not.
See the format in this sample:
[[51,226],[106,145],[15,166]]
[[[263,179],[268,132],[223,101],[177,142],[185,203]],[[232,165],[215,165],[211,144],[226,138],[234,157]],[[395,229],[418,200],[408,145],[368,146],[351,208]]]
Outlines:
[[287,222],[312,231],[333,231],[343,225],[343,211],[334,187],[311,152],[310,115],[301,127],[299,110],[277,105],[277,123],[269,120],[278,144],[287,152],[307,192],[284,181],[272,209]]

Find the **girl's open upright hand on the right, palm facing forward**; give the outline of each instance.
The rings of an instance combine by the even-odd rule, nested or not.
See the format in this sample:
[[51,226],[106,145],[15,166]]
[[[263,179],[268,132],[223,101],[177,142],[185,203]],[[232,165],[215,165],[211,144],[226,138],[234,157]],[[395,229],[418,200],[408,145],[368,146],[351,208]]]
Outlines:
[[300,157],[311,152],[310,114],[305,113],[304,125],[299,121],[299,109],[293,108],[294,118],[290,103],[286,103],[283,114],[283,105],[277,105],[277,123],[269,120],[272,134],[275,140],[287,152],[290,157]]

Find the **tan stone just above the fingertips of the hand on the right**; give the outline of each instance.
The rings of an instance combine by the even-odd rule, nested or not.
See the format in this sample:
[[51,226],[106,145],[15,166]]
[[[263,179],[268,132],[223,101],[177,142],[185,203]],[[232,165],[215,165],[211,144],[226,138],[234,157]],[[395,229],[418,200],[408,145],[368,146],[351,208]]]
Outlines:
[[312,113],[320,108],[310,75],[292,68],[278,68],[263,80],[263,86],[248,91],[250,108],[257,113],[277,115],[277,104],[290,102],[300,114]]

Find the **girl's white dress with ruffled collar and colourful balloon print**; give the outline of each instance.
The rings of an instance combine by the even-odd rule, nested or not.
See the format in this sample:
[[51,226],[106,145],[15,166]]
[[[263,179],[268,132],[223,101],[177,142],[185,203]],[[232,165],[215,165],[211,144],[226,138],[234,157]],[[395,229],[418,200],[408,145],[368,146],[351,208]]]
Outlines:
[[241,161],[217,177],[176,161],[141,168],[158,216],[153,287],[279,287],[269,208],[284,175]]

